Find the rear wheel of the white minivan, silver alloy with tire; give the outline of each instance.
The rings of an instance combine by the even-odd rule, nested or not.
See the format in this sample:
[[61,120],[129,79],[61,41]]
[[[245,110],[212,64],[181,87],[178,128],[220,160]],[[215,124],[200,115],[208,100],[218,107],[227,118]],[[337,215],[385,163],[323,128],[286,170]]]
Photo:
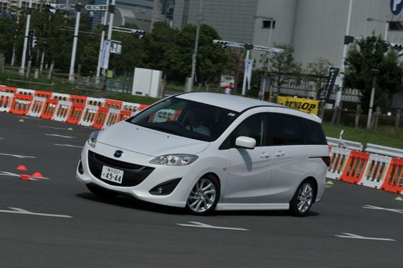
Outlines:
[[315,187],[313,181],[305,180],[296,189],[294,197],[291,199],[289,212],[296,217],[305,216],[313,203],[315,196]]

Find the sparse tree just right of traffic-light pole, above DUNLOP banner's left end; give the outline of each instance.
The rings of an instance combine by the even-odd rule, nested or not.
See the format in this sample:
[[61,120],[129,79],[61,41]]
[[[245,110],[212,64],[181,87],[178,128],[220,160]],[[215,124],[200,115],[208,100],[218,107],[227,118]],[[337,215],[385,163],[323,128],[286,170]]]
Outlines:
[[301,75],[301,63],[294,62],[294,48],[291,45],[274,44],[276,48],[281,48],[284,53],[264,53],[260,57],[262,70],[270,73],[276,80],[277,92],[281,93],[281,87],[286,81]]

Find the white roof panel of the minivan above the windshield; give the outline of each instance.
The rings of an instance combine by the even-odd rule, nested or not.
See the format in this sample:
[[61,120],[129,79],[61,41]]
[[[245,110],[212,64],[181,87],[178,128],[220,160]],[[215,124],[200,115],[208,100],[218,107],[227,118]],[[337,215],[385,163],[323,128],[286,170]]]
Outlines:
[[203,102],[213,106],[230,109],[235,112],[242,112],[252,107],[284,107],[280,104],[272,102],[264,102],[262,100],[250,99],[248,97],[240,97],[236,95],[227,95],[213,92],[187,92],[176,95],[176,97],[184,100],[192,100],[194,102]]

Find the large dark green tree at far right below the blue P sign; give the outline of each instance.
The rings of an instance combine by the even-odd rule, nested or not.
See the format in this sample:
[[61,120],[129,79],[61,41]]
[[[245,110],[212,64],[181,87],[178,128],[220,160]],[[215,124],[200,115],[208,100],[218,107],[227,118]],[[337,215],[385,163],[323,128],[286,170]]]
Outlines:
[[399,64],[396,51],[390,50],[388,43],[374,33],[354,45],[345,59],[344,87],[361,90],[361,104],[364,109],[369,107],[372,69],[380,70],[377,75],[374,104],[386,107],[390,97],[403,90],[403,68]]

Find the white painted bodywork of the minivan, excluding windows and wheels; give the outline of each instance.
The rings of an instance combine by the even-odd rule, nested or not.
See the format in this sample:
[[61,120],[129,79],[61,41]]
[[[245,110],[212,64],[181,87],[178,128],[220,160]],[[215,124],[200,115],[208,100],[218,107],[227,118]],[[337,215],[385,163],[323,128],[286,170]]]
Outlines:
[[[278,104],[233,95],[192,92],[176,95],[174,98],[222,107],[236,112],[237,117],[214,141],[161,132],[131,123],[131,119],[114,124],[98,134],[95,147],[90,146],[88,142],[85,143],[81,154],[81,169],[77,169],[78,181],[92,183],[110,191],[127,193],[151,203],[185,208],[195,183],[206,174],[210,174],[220,182],[219,200],[215,210],[287,210],[301,182],[311,178],[316,184],[315,199],[312,203],[321,200],[326,188],[327,166],[323,161],[323,157],[329,154],[326,144],[222,149],[222,144],[235,128],[253,114],[286,114],[320,123],[318,117]],[[151,107],[136,114],[134,118]],[[268,124],[265,126],[267,129]],[[246,139],[248,140],[250,139]],[[117,151],[122,151],[122,155],[114,156]],[[114,161],[135,164],[139,166],[139,170],[141,167],[154,170],[147,173],[149,171],[144,171],[147,168],[141,169],[139,172],[147,173],[146,178],[136,186],[110,183],[101,180],[91,171],[89,159],[95,157],[94,154],[100,155],[100,159],[107,157]],[[150,163],[158,156],[171,154],[193,155],[197,159],[185,166]],[[99,165],[119,169],[119,166],[113,166],[114,161],[100,162]],[[171,193],[167,195],[150,193],[151,189],[161,183],[176,178],[181,180]]]

